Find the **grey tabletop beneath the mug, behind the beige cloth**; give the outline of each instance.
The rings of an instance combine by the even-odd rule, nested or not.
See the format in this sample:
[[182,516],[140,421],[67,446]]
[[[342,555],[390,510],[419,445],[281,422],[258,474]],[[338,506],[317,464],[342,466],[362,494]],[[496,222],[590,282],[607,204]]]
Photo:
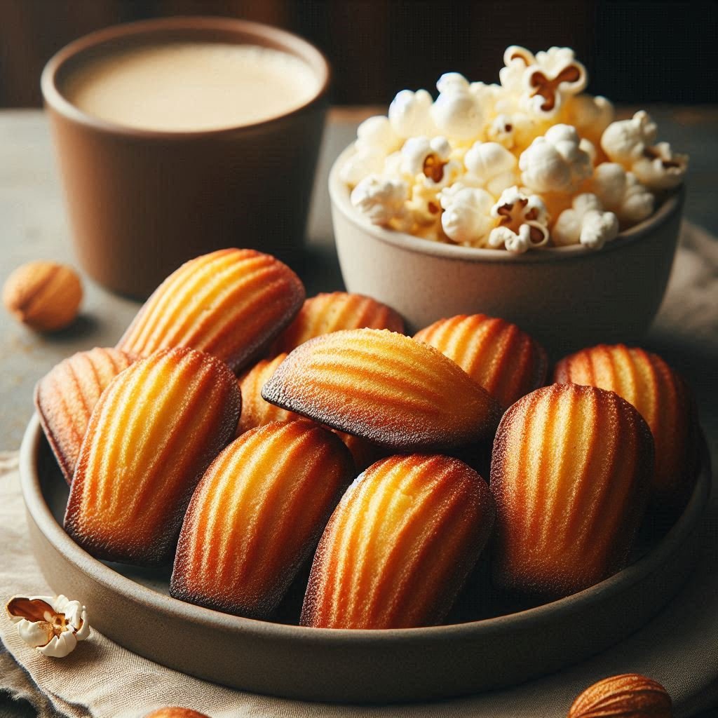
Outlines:
[[[688,200],[685,215],[692,222],[718,234],[718,208],[714,194],[718,182],[718,106],[649,107],[658,121],[661,139],[691,155]],[[632,111],[625,108],[625,113]],[[308,294],[340,289],[341,275],[332,241],[327,174],[337,154],[355,136],[355,129],[370,108],[335,109],[330,113],[322,145],[320,167],[314,188],[307,237],[305,270]],[[77,265],[70,243],[65,207],[50,145],[47,121],[41,111],[0,111],[0,282],[20,264],[37,258],[55,259]],[[92,346],[111,346],[136,313],[139,304],[106,292],[86,276],[83,314],[70,329],[53,335],[38,335],[0,311],[0,449],[16,449],[32,414],[32,389],[39,377],[55,363],[75,351]],[[660,322],[658,333],[660,337]],[[670,353],[671,343],[666,343]],[[671,357],[667,357],[671,360]],[[696,365],[700,363],[696,361]],[[681,367],[686,374],[690,367]],[[689,376],[689,381],[699,374]],[[702,392],[709,408],[704,426],[716,449],[714,379]],[[700,388],[700,385],[699,385]],[[700,393],[700,392],[699,392]],[[4,706],[0,701],[0,712]],[[12,710],[18,714],[22,707]],[[708,714],[706,714],[707,716]]]

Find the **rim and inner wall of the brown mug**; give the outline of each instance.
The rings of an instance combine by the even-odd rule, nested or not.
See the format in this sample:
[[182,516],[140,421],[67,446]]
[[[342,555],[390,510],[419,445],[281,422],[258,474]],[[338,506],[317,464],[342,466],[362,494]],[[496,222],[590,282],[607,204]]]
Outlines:
[[[62,93],[58,78],[62,70],[68,63],[73,62],[86,52],[91,52],[95,48],[106,45],[115,40],[123,38],[135,40],[137,38],[151,37],[155,34],[160,36],[164,33],[187,32],[188,38],[194,32],[199,31],[220,31],[234,32],[238,37],[244,37],[244,42],[237,42],[237,45],[251,44],[246,40],[264,39],[269,40],[269,47],[277,49],[280,52],[286,52],[288,55],[297,57],[309,66],[310,70],[318,80],[317,90],[314,91],[312,97],[302,105],[292,109],[291,111],[281,113],[277,116],[267,118],[258,122],[248,124],[235,124],[215,129],[200,130],[158,130],[144,129],[134,126],[124,125],[122,123],[105,120],[90,113],[80,110],[75,104]],[[210,40],[210,42],[215,42]],[[221,40],[219,42],[222,42]],[[231,41],[230,41],[231,42]],[[141,45],[141,42],[138,43]],[[258,43],[262,47],[266,47],[264,43]],[[50,57],[47,64],[42,70],[40,78],[40,88],[42,96],[45,99],[46,106],[57,111],[62,116],[75,123],[80,123],[90,129],[101,131],[108,134],[129,136],[135,138],[148,139],[197,139],[204,137],[222,137],[234,135],[238,132],[251,133],[257,129],[264,129],[274,123],[286,121],[288,118],[304,113],[321,103],[329,90],[332,80],[332,68],[325,57],[324,53],[311,42],[300,37],[293,32],[274,27],[261,22],[253,22],[251,20],[243,20],[233,17],[215,17],[204,15],[183,15],[179,17],[158,17],[146,20],[138,20],[135,22],[126,22],[109,27],[104,27],[79,37],[68,43],[55,55]]]

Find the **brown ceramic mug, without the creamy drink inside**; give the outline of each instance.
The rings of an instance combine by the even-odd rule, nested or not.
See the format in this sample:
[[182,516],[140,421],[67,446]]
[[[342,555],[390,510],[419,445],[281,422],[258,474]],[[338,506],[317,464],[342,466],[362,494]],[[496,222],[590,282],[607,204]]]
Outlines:
[[[302,60],[317,78],[304,105],[227,129],[134,129],[90,116],[63,94],[88,60],[164,42],[258,45]],[[302,250],[327,108],[330,68],[303,39],[253,22],[172,17],[89,34],[42,74],[75,249],[108,289],[144,298],[182,262],[228,246],[285,261]]]

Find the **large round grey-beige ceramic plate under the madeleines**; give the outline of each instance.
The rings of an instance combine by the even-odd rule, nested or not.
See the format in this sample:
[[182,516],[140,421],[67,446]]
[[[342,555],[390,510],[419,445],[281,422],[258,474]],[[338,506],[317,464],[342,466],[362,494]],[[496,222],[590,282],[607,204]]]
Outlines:
[[37,416],[22,444],[22,490],[40,567],[81,600],[90,623],[141,656],[258,693],[343,702],[415,701],[477,693],[557,671],[646,623],[693,567],[707,505],[704,451],[684,515],[650,554],[577,595],[513,615],[404,630],[328,630],[269,623],[167,595],[169,572],[106,564],[62,530],[67,486]]

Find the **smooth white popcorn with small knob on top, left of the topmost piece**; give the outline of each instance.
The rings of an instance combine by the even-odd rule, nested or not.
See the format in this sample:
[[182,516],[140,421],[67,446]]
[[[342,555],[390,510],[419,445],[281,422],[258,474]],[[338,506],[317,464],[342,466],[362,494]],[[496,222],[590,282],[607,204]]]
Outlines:
[[431,108],[434,125],[442,134],[459,140],[475,138],[485,119],[484,105],[468,80],[459,73],[445,73],[437,82],[439,97]]

